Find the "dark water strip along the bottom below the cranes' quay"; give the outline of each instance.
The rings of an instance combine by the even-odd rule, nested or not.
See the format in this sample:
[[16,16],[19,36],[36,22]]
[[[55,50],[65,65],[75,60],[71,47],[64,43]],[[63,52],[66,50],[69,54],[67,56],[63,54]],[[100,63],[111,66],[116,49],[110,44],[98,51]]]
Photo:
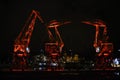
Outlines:
[[63,72],[2,72],[0,80],[120,80],[119,70]]

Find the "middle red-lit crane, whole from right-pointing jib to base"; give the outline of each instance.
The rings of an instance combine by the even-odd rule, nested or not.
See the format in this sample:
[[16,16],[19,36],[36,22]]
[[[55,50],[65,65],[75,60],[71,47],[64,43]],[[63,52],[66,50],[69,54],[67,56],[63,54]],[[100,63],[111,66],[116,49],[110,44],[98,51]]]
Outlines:
[[[47,31],[49,35],[50,41],[45,44],[45,50],[49,55],[50,64],[48,70],[63,70],[63,68],[60,65],[60,53],[62,52],[62,48],[64,47],[64,42],[62,41],[62,38],[60,36],[60,33],[58,31],[58,27],[64,24],[70,23],[69,21],[66,22],[58,22],[57,20],[52,20],[47,25]],[[52,30],[53,31],[52,31]],[[53,67],[54,68],[51,68]]]

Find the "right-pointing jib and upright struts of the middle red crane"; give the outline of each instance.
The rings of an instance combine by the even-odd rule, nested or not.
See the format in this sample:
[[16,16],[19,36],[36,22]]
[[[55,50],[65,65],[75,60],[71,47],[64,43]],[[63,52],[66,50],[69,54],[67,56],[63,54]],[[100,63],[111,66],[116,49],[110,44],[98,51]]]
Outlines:
[[[71,22],[70,21],[58,22],[57,20],[52,20],[47,25],[48,35],[49,35],[49,39],[50,39],[50,43],[47,43],[47,44],[57,45],[60,53],[62,52],[62,48],[64,47],[64,42],[62,41],[62,38],[61,38],[60,33],[58,31],[58,27],[61,25],[64,25],[64,24],[68,24],[68,23],[71,23]],[[52,33],[50,31],[51,28],[55,30],[55,36],[53,36],[54,33]]]

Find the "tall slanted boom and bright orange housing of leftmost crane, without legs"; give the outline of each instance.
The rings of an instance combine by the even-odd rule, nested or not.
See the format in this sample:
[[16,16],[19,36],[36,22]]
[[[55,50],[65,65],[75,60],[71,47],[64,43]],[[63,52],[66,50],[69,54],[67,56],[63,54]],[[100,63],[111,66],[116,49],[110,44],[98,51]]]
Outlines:
[[17,52],[18,50],[25,52],[25,48],[27,48],[30,43],[30,39],[31,39],[31,35],[34,29],[36,18],[38,18],[41,21],[41,23],[43,23],[40,13],[38,11],[32,10],[22,31],[20,32],[20,34],[15,40],[14,52]]

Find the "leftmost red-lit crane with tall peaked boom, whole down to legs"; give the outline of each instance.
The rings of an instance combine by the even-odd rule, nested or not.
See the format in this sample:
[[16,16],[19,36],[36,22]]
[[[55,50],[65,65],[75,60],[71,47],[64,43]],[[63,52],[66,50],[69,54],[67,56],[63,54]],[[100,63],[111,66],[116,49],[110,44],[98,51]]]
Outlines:
[[27,64],[25,57],[27,57],[28,53],[30,52],[29,43],[36,19],[39,19],[40,22],[43,23],[40,13],[36,10],[32,10],[22,31],[14,42],[13,64],[19,64],[20,66]]

